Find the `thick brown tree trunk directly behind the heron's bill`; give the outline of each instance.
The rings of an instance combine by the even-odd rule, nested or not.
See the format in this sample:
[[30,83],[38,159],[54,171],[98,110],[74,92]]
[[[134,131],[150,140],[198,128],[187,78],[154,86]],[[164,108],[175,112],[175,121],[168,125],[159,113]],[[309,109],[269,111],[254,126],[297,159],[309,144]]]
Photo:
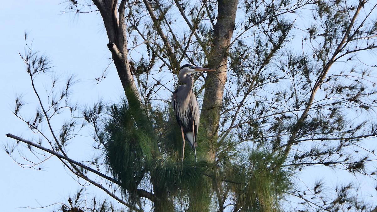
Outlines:
[[238,0],[218,0],[218,19],[213,29],[213,46],[208,57],[208,68],[215,69],[214,74],[205,78],[201,120],[205,135],[210,141],[210,160],[215,160],[214,144],[218,138],[218,126],[224,86],[227,81],[227,61],[230,41],[233,36]]

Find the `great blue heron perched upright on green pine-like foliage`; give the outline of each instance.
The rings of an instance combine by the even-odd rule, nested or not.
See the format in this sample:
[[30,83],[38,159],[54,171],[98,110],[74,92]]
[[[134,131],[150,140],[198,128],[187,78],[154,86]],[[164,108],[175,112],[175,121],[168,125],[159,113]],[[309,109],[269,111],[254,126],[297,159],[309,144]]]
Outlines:
[[201,71],[215,71],[213,69],[201,68],[191,64],[182,66],[179,69],[179,80],[184,85],[179,86],[173,93],[172,103],[177,122],[181,127],[182,133],[182,161],[185,154],[185,135],[190,141],[189,144],[194,148],[196,160],[196,136],[199,128],[199,106],[195,94],[192,92],[194,80],[190,73]]

